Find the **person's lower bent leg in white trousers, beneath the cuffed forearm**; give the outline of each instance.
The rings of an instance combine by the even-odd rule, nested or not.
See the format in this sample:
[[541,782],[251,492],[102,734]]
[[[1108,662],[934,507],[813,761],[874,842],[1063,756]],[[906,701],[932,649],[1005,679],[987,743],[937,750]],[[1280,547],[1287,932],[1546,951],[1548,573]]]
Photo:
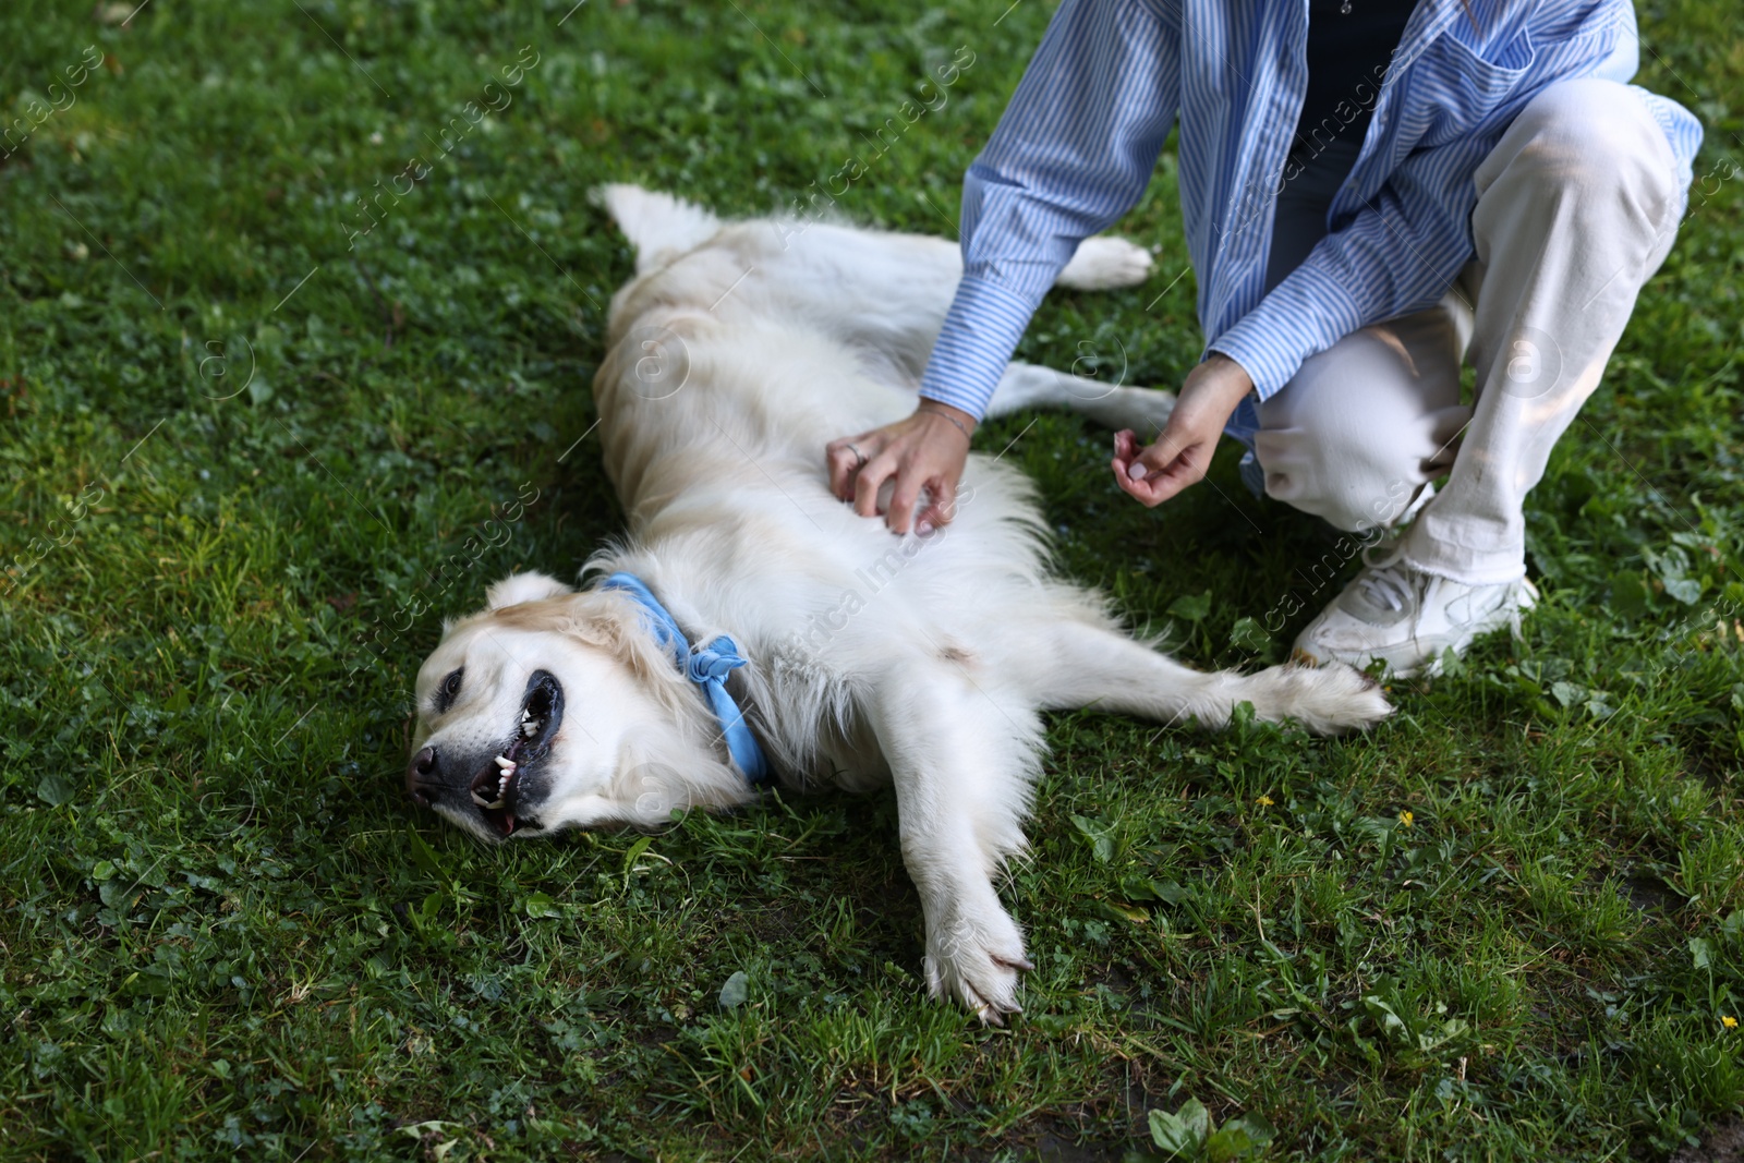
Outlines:
[[1463,307],[1362,328],[1303,363],[1259,405],[1254,455],[1266,495],[1336,528],[1392,525],[1453,464]]

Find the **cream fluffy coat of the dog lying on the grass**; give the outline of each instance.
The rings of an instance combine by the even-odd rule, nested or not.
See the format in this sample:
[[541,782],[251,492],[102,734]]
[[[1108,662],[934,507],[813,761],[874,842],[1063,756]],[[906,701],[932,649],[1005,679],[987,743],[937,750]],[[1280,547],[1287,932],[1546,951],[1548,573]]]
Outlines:
[[[734,690],[781,783],[895,783],[935,996],[987,1020],[1018,1008],[1024,940],[994,875],[1024,847],[1041,711],[1216,727],[1247,701],[1318,732],[1386,715],[1352,670],[1207,675],[1134,642],[1099,595],[1050,572],[1029,481],[998,457],[970,457],[956,520],[928,537],[835,500],[823,445],[914,408],[954,244],[722,223],[633,187],[602,199],[637,249],[595,378],[630,535],[584,572],[633,572],[692,642],[739,643]],[[1100,237],[1060,282],[1127,286],[1148,269]],[[992,411],[1034,405],[1156,431],[1172,398],[1012,364]],[[537,574],[446,628],[419,673],[413,752],[413,795],[487,839],[656,826],[755,795],[628,595]]]

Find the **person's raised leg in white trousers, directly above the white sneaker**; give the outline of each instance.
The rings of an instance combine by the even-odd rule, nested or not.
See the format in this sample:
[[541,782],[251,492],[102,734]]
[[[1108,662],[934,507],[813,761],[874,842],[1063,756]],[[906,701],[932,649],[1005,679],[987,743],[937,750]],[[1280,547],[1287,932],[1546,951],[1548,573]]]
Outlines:
[[1526,574],[1526,493],[1599,384],[1683,211],[1666,134],[1627,85],[1568,80],[1477,169],[1477,405],[1404,560],[1467,584]]

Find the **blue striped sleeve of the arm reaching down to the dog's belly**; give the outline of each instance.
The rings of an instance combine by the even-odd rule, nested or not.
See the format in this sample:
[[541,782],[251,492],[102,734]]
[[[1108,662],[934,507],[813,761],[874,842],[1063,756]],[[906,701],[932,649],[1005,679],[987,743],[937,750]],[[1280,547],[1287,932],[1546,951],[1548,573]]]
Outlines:
[[1144,194],[1179,78],[1179,30],[1148,0],[1060,3],[963,180],[963,281],[921,396],[985,413],[1078,244]]

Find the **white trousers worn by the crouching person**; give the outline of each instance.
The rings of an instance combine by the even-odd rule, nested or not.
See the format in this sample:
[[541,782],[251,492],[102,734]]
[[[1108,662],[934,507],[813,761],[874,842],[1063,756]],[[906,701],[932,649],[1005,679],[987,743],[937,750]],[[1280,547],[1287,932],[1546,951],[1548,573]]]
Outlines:
[[1458,284],[1305,361],[1259,406],[1254,453],[1268,495],[1353,532],[1390,525],[1448,474],[1404,560],[1493,584],[1526,572],[1526,493],[1671,249],[1685,187],[1646,106],[1594,78],[1533,98],[1475,180],[1477,258]]

